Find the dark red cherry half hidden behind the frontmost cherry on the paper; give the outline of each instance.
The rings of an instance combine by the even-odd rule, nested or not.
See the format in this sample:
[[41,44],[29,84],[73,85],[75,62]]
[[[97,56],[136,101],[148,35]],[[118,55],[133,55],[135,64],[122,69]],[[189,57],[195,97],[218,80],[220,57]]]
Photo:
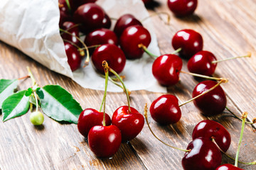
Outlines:
[[[93,30],[91,33],[86,35],[85,44],[87,46],[103,44],[118,45],[118,38],[112,30],[107,28],[100,28]],[[100,65],[102,65],[102,63],[100,63]]]

